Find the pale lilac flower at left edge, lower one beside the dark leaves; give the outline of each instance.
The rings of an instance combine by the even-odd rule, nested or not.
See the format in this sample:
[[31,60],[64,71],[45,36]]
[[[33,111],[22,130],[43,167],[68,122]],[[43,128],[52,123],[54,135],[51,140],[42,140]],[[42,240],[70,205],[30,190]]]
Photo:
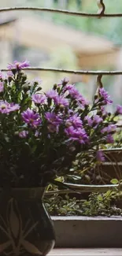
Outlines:
[[18,104],[0,101],[0,113],[10,113],[19,109],[20,106]]

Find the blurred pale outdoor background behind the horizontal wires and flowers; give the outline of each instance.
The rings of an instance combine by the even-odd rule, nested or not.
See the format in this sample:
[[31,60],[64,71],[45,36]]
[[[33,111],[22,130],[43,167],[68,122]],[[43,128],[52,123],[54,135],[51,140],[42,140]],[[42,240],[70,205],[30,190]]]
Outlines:
[[[122,0],[105,0],[106,13],[122,13]],[[96,0],[0,0],[0,8],[35,6],[97,13]],[[1,13],[0,69],[14,60],[31,66],[63,69],[122,70],[122,18],[96,19],[60,13],[17,11]],[[95,76],[29,72],[40,77],[46,91],[68,76],[88,99],[97,88]],[[122,104],[122,76],[104,76],[115,103]]]

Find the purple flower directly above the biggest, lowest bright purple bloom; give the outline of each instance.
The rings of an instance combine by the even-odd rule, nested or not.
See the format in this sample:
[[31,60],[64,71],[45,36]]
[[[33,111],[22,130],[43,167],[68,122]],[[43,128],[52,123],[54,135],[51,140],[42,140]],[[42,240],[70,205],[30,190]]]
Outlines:
[[68,119],[65,122],[65,125],[68,126],[74,126],[74,127],[82,127],[83,122],[81,121],[80,117],[78,117],[76,114],[72,115],[71,117],[68,117]]

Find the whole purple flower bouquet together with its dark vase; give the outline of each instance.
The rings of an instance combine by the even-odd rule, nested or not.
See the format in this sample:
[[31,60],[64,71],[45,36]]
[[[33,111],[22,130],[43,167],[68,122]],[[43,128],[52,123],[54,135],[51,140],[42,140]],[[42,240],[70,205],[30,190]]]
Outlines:
[[58,176],[73,176],[72,162],[81,152],[87,166],[104,161],[101,148],[113,143],[122,113],[122,106],[106,112],[112,101],[103,87],[93,104],[66,78],[44,93],[40,81],[29,82],[22,71],[28,66],[14,61],[6,76],[0,74],[2,255],[46,255],[54,247],[54,228],[43,206],[46,186],[61,185]]

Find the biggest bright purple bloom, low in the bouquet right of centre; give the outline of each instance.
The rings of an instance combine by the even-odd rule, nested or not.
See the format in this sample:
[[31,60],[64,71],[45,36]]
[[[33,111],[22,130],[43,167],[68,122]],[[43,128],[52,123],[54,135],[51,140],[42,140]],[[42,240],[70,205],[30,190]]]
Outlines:
[[88,136],[83,128],[74,128],[73,126],[69,126],[65,128],[65,133],[68,135],[70,140],[76,140],[81,144],[87,143]]

